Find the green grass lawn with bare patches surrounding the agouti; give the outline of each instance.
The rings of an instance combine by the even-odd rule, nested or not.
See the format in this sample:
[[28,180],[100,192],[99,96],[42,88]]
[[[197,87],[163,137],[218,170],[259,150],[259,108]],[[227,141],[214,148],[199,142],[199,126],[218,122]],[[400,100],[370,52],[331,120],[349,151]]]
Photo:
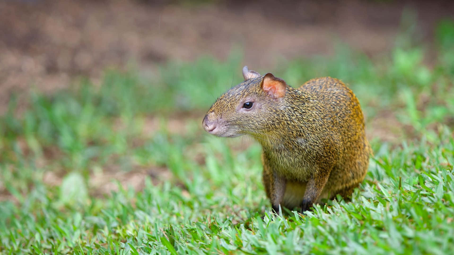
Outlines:
[[[273,74],[294,87],[327,75],[349,83],[375,152],[350,203],[307,216],[270,214],[257,143],[200,127],[241,81],[241,56],[170,63],[152,79],[108,71],[100,87],[82,79],[32,93],[20,117],[12,98],[0,118],[0,254],[449,254],[454,25],[436,30],[433,67],[427,50],[407,44],[375,61],[340,48],[331,59],[276,64]],[[387,122],[394,129],[381,130]],[[380,135],[393,130],[396,140]],[[142,186],[122,186],[115,173],[141,173]]]

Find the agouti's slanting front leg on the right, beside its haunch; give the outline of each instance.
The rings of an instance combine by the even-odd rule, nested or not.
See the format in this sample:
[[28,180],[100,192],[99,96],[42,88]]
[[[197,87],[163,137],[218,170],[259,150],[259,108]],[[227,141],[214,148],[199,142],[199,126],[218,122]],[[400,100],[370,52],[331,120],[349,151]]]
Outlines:
[[306,185],[306,191],[304,192],[303,201],[301,202],[301,213],[309,211],[309,207],[317,201],[329,176],[329,172],[320,171],[316,172],[316,174],[309,179]]

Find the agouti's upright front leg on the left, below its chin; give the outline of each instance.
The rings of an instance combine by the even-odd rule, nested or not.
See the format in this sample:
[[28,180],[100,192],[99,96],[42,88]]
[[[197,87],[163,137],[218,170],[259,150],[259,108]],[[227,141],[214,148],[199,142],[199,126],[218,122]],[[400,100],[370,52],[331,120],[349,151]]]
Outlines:
[[265,186],[266,196],[271,201],[272,209],[279,213],[279,204],[281,204],[284,197],[286,179],[272,171],[267,165],[263,165],[262,181]]

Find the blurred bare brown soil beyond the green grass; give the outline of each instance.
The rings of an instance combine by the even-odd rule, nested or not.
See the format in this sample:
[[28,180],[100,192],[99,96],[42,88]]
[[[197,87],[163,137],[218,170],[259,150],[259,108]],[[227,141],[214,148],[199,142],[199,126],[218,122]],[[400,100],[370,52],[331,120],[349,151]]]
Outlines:
[[168,63],[239,53],[241,64],[273,71],[339,44],[379,59],[399,35],[427,46],[431,63],[436,25],[453,11],[451,1],[3,0],[0,110],[11,93],[52,93],[80,76],[99,83],[128,64],[154,76]]

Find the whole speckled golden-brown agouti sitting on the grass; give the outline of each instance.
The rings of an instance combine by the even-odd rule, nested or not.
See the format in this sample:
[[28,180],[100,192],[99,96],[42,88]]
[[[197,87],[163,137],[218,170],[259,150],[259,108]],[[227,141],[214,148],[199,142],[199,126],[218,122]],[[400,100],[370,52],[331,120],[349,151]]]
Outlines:
[[292,88],[243,68],[244,82],[217,98],[202,126],[218,137],[250,135],[263,148],[262,181],[272,209],[309,210],[364,180],[372,152],[355,94],[340,80]]

